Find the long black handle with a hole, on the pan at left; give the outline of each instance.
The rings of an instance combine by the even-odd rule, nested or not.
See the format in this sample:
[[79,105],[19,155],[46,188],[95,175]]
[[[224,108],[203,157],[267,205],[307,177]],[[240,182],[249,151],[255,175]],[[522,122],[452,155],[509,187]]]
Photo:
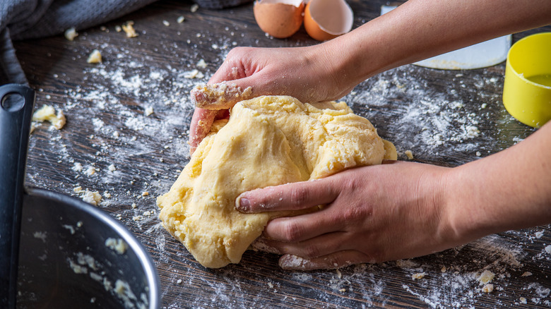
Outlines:
[[23,183],[35,91],[0,86],[0,308],[16,308]]

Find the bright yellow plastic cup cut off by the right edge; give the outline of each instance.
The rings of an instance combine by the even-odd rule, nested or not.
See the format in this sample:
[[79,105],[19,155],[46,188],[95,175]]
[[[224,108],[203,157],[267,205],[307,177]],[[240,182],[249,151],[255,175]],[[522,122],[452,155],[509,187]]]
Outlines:
[[551,119],[551,32],[524,37],[509,49],[503,104],[534,128]]

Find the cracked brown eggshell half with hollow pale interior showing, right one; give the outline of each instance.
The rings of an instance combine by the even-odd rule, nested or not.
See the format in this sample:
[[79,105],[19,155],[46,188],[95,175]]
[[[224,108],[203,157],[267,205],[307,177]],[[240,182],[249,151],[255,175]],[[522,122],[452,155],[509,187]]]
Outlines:
[[352,8],[345,0],[310,0],[304,10],[304,28],[318,41],[349,32],[353,22]]

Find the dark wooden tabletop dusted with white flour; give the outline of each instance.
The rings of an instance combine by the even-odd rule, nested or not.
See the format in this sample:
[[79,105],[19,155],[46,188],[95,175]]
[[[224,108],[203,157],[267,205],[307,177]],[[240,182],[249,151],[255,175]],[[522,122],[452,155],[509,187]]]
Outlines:
[[[379,16],[381,4],[350,1],[355,27]],[[254,22],[252,4],[195,13],[190,7],[190,2],[160,1],[105,28],[80,30],[72,42],[59,35],[15,44],[30,84],[38,90],[37,107],[51,104],[67,117],[61,131],[41,124],[32,133],[26,185],[75,196],[76,186],[107,191],[110,198],[104,197],[98,207],[120,219],[148,249],[160,275],[162,308],[551,306],[551,254],[545,250],[551,244],[549,226],[340,272],[282,271],[276,255],[252,251],[239,265],[201,267],[162,229],[155,204],[189,160],[189,90],[206,82],[235,45],[316,42],[303,28],[286,40],[264,35]],[[179,16],[185,17],[183,23],[177,23]],[[115,30],[127,20],[134,20],[138,37],[126,38]],[[551,27],[516,34],[514,41],[544,30]],[[103,63],[86,63],[93,49],[102,52]],[[206,68],[197,66],[200,59]],[[194,69],[205,77],[184,77]],[[503,79],[504,63],[472,71],[409,65],[370,78],[343,100],[396,145],[400,159],[411,150],[419,162],[457,166],[504,150],[534,132],[505,111]],[[146,116],[148,107],[153,114]],[[469,127],[479,132],[469,135]],[[76,163],[83,171],[74,169]],[[115,171],[109,171],[111,164]],[[97,169],[91,176],[85,174],[89,166]],[[146,191],[149,195],[143,196]],[[496,274],[491,293],[482,293],[478,281],[485,269]],[[421,272],[424,278],[412,278]],[[531,276],[522,277],[526,272]]]

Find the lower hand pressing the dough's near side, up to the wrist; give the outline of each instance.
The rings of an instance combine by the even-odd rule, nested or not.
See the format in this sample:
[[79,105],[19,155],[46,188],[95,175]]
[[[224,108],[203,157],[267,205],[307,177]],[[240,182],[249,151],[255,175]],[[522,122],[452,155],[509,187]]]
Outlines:
[[[387,162],[388,163],[388,162]],[[442,189],[451,169],[391,162],[239,195],[245,213],[323,209],[268,222],[257,246],[284,269],[331,269],[417,257],[463,239],[450,227]]]

